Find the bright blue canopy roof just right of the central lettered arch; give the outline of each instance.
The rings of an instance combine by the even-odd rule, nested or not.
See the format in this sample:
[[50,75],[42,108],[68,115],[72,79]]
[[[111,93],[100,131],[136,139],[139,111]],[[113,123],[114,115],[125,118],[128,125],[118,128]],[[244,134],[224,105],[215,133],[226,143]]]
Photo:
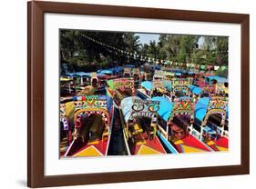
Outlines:
[[158,114],[167,122],[173,108],[173,103],[170,102],[169,99],[164,96],[155,96],[151,100],[159,101]]

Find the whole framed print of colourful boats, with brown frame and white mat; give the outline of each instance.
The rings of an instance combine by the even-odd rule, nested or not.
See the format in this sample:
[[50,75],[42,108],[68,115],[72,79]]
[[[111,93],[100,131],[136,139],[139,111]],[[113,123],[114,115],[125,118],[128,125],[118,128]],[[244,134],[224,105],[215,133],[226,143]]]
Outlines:
[[30,187],[249,174],[249,15],[29,2],[27,100]]

